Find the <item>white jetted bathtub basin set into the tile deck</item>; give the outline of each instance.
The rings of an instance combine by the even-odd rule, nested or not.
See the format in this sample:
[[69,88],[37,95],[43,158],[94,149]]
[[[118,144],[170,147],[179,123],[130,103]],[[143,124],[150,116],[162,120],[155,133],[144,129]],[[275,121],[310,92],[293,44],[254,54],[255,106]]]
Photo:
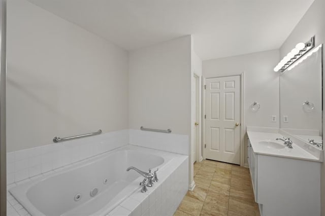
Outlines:
[[[135,166],[144,171],[159,167],[160,171],[168,168],[175,155],[128,145],[42,175],[10,189],[10,193],[34,216],[106,215],[140,190],[143,177],[134,170],[127,172],[127,167]],[[90,191],[94,188],[98,194],[91,197]],[[81,198],[75,201],[77,194]]]

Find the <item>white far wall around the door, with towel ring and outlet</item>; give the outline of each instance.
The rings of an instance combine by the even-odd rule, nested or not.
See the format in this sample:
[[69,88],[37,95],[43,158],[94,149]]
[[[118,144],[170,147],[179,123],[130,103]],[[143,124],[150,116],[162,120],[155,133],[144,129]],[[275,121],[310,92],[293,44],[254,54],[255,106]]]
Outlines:
[[[273,71],[278,62],[279,50],[218,58],[203,61],[202,74],[209,78],[243,73],[244,130],[246,126],[279,127],[279,74]],[[250,110],[254,101],[261,104],[257,112]],[[277,116],[277,122],[271,122],[272,115]]]

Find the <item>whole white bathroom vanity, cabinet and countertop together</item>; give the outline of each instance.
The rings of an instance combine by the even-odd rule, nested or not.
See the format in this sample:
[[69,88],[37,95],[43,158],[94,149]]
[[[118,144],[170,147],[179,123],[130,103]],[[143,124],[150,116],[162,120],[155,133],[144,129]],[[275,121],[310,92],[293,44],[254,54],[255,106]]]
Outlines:
[[248,164],[261,215],[319,216],[322,151],[295,138],[289,149],[276,140],[283,137],[279,132],[248,130],[247,135]]

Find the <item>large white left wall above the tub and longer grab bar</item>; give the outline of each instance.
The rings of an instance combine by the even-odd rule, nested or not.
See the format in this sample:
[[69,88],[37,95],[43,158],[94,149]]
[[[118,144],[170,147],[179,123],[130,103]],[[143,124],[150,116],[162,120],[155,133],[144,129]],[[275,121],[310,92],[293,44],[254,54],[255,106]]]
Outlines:
[[128,128],[126,51],[24,0],[7,28],[8,152]]

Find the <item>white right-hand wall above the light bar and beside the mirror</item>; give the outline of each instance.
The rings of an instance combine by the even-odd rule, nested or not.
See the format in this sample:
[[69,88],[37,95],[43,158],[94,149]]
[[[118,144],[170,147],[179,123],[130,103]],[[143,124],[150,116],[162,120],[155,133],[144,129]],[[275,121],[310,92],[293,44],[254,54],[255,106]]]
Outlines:
[[[315,0],[310,6],[306,14],[290,33],[289,37],[283,43],[280,48],[280,57],[283,58],[293,47],[299,42],[306,42],[315,35],[315,44],[325,43],[325,1]],[[325,62],[325,56],[323,55],[323,62]],[[325,68],[323,66],[323,79]],[[323,80],[324,83],[324,80]],[[323,88],[323,107],[325,107],[325,89]],[[323,119],[325,119],[325,112],[323,112]],[[325,129],[325,121],[323,123],[323,134]],[[323,136],[323,141],[325,138]],[[325,156],[325,153],[324,153]],[[321,215],[325,215],[325,165],[321,164]]]

